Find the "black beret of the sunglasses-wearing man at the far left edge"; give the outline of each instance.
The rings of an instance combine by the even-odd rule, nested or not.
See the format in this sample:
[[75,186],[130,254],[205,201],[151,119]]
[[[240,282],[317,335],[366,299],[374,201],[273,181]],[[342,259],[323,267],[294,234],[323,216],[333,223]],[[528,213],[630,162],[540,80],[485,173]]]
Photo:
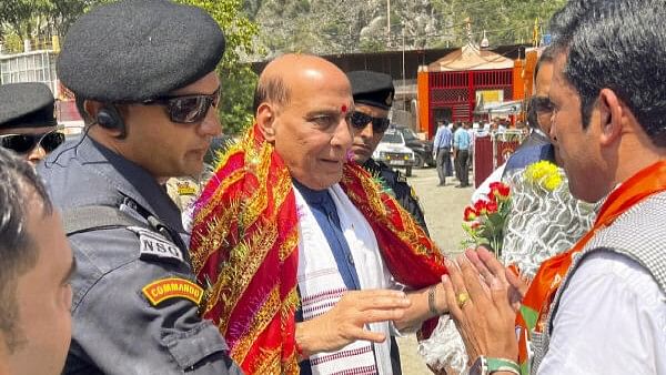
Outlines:
[[53,103],[53,93],[43,83],[2,84],[0,129],[54,126]]

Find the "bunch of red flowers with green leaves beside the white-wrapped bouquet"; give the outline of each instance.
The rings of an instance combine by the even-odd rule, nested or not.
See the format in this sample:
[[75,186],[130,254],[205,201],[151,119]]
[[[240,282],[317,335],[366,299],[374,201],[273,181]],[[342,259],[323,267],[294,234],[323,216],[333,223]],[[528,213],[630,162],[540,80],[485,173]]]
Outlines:
[[504,226],[511,211],[511,188],[502,182],[493,182],[490,188],[490,200],[478,200],[465,207],[463,229],[468,239],[463,240],[463,246],[485,245],[500,257]]

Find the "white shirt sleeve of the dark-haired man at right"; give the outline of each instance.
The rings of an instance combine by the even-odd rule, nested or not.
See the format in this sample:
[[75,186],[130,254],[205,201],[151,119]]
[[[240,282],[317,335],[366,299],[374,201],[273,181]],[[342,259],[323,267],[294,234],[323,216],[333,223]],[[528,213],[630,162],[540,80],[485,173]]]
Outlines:
[[666,374],[666,295],[626,256],[585,259],[553,326],[538,374]]

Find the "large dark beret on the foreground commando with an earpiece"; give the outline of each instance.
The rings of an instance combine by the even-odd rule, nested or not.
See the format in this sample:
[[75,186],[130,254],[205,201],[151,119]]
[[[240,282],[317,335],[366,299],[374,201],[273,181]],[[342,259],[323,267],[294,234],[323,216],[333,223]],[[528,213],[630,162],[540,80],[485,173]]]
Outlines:
[[141,102],[198,81],[223,54],[224,34],[202,9],[124,0],[100,6],[70,27],[57,69],[81,98]]

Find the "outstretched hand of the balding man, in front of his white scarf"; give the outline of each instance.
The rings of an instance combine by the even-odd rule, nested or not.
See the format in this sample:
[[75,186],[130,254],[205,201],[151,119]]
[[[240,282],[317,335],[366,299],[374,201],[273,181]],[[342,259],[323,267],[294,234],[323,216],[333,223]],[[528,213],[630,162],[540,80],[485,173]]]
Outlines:
[[367,324],[401,320],[410,305],[403,292],[350,291],[325,314],[300,323],[296,342],[306,356],[335,352],[359,339],[382,343],[386,335],[369,331]]

